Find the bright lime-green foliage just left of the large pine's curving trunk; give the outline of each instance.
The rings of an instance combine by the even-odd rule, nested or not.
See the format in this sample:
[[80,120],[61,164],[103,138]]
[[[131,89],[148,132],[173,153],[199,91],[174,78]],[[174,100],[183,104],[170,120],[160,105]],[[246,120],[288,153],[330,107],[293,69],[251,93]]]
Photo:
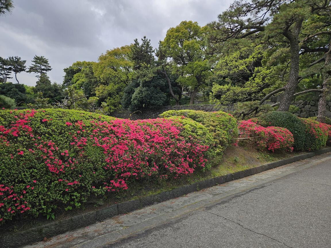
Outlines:
[[266,77],[271,72],[262,66],[264,57],[261,45],[247,44],[219,59],[214,69],[210,101],[213,103],[236,103],[258,99],[267,85]]

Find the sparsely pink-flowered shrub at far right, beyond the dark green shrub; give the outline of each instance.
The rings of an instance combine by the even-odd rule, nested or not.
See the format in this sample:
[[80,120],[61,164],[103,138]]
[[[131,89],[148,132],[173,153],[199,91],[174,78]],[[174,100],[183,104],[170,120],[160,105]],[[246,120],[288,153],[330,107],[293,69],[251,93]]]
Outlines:
[[330,128],[325,123],[312,119],[299,118],[306,127],[304,150],[318,150],[326,145]]

